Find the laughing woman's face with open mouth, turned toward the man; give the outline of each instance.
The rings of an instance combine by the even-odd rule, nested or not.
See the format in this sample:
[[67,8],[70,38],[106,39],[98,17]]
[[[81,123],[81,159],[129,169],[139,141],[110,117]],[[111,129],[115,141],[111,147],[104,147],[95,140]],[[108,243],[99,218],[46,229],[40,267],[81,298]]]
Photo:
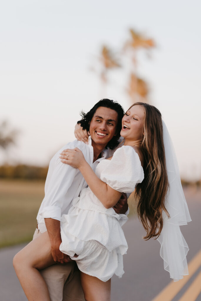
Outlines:
[[136,104],[125,113],[122,118],[121,136],[130,141],[142,139],[145,109]]

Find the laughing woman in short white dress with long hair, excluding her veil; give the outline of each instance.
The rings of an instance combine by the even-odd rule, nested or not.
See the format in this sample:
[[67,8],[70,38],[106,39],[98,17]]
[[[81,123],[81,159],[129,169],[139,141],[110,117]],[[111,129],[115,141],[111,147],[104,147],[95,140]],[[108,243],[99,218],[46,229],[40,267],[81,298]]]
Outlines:
[[[138,214],[147,231],[145,239],[158,237],[168,216],[165,208],[168,175],[159,110],[148,104],[134,104],[122,119],[121,136],[124,145],[110,160],[99,163],[96,174],[78,149],[66,150],[61,156],[64,163],[80,170],[89,185],[74,200],[68,215],[62,216],[60,246],[63,253],[77,262],[86,300],[110,300],[111,276],[115,273],[121,277],[124,273],[122,255],[127,250],[121,229],[124,221],[112,209],[121,193],[130,193],[137,185]],[[28,300],[50,300],[38,272],[55,263],[48,242],[45,232],[14,258]],[[36,254],[36,250],[40,253]],[[20,272],[22,263],[27,273]],[[93,280],[96,277],[93,287],[92,277]]]

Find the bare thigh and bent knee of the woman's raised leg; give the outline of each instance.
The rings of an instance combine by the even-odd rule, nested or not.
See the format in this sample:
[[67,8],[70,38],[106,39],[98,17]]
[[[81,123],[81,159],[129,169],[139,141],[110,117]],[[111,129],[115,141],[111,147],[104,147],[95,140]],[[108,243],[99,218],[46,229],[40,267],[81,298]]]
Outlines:
[[54,264],[48,232],[32,240],[15,255],[14,259],[39,270]]

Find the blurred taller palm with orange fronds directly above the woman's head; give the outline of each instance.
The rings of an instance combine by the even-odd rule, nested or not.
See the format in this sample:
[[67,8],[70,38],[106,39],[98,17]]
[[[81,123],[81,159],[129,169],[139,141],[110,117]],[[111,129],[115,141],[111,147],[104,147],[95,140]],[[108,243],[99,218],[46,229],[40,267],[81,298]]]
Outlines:
[[124,51],[131,55],[131,72],[127,93],[132,103],[136,101],[147,101],[148,86],[143,79],[137,76],[137,51],[146,49],[146,54],[150,57],[150,49],[155,47],[153,39],[147,39],[143,34],[134,29],[130,29],[131,38],[125,43]]

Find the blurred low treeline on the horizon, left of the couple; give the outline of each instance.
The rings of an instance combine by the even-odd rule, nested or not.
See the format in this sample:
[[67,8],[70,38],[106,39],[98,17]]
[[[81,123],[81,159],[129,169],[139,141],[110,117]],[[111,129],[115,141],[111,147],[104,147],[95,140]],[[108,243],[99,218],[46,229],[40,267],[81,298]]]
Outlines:
[[31,166],[20,164],[16,166],[0,166],[0,178],[7,179],[46,179],[48,166]]

